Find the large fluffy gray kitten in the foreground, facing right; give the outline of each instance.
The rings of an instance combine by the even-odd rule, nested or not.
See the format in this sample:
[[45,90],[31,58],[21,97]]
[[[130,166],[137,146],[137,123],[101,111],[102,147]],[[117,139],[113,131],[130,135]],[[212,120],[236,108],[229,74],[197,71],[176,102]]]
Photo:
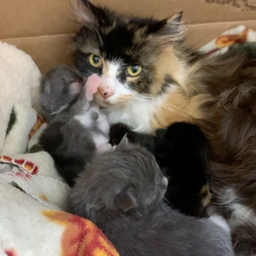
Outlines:
[[234,255],[220,216],[197,219],[162,205],[167,183],[148,150],[122,141],[80,173],[70,211],[102,229],[121,256]]

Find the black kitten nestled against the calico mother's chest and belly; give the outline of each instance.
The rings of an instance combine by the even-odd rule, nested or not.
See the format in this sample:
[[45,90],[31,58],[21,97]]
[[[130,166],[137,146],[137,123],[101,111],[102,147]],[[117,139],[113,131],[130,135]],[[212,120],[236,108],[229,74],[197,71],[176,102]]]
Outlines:
[[130,142],[139,143],[152,152],[169,183],[166,203],[180,212],[197,217],[211,215],[211,195],[207,163],[211,146],[200,128],[188,123],[175,123],[159,129],[156,136],[134,132],[125,124],[110,126],[110,143],[119,144],[127,135]]

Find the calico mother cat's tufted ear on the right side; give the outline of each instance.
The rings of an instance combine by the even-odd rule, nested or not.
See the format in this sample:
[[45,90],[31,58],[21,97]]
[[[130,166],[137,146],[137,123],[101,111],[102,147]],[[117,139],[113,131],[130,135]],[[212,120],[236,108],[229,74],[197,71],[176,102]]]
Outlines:
[[153,38],[163,43],[180,40],[187,28],[181,21],[182,14],[183,11],[162,20],[162,26],[154,33]]

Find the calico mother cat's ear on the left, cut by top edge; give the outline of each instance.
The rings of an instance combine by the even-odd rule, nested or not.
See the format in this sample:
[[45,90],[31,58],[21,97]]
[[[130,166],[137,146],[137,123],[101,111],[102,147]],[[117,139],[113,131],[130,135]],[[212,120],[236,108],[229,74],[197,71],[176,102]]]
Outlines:
[[105,11],[88,0],[77,0],[76,13],[82,25],[86,27],[96,28],[97,25],[107,22]]

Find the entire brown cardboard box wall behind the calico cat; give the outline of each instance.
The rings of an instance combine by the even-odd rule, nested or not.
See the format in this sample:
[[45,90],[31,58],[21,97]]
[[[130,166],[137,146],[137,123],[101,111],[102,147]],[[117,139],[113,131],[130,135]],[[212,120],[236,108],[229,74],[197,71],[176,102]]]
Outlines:
[[[164,19],[184,11],[188,44],[198,48],[237,25],[256,30],[255,0],[91,0],[118,12]],[[30,54],[41,72],[71,63],[72,36],[78,29],[75,0],[1,0],[0,40]]]

